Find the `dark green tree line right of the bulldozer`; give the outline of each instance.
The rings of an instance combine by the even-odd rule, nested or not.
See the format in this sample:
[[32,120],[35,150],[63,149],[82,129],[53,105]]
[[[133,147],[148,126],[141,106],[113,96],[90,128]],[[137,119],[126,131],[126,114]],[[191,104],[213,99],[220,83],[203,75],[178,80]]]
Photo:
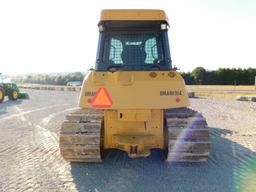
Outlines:
[[254,85],[256,68],[219,68],[211,71],[196,67],[192,72],[181,75],[187,85]]

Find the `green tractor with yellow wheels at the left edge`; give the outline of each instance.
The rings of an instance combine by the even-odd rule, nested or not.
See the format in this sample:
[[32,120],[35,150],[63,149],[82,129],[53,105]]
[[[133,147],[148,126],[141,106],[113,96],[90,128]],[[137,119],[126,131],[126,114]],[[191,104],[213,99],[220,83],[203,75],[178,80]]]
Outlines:
[[0,103],[4,101],[5,96],[10,100],[28,99],[27,93],[21,93],[15,83],[5,82],[0,73]]

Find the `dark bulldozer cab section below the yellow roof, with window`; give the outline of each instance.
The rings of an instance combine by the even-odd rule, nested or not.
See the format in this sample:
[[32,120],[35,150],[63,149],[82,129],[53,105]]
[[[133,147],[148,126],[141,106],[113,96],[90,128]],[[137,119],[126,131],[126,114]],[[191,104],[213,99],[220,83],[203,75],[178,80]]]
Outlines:
[[171,70],[167,21],[100,21],[96,71]]

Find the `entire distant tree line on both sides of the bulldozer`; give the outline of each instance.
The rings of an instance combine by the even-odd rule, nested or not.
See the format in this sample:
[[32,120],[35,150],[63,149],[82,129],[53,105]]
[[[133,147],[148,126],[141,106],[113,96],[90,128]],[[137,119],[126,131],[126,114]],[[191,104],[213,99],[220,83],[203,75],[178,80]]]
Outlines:
[[[192,72],[181,72],[181,75],[187,85],[253,85],[256,68],[206,70],[203,67],[196,67]],[[12,79],[17,83],[66,85],[70,81],[83,81],[84,76],[85,73],[74,72],[66,74],[32,74],[16,76]]]

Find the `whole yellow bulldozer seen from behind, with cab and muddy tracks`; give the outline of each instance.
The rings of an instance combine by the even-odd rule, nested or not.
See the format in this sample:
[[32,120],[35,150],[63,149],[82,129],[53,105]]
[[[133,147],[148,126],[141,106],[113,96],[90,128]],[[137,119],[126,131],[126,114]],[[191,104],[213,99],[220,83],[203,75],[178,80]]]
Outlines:
[[84,79],[78,111],[66,116],[60,152],[67,161],[101,162],[107,149],[169,162],[206,161],[205,118],[189,108],[172,66],[169,23],[162,10],[102,10],[95,69]]

